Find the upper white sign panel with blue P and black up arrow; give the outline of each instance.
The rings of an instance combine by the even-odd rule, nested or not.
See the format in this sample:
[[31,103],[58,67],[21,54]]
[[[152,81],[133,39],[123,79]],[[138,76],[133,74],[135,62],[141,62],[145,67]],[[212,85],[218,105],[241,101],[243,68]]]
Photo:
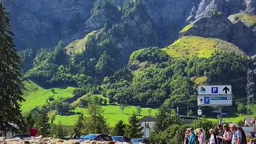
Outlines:
[[198,95],[230,95],[232,94],[231,85],[199,85]]

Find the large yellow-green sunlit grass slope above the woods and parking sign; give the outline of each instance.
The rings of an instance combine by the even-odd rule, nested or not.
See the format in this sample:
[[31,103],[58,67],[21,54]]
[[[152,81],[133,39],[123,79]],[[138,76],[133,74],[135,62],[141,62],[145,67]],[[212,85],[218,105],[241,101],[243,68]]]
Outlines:
[[162,49],[174,58],[197,55],[198,57],[209,58],[215,50],[227,52],[235,51],[245,54],[237,46],[218,38],[204,38],[199,36],[184,36],[170,46]]

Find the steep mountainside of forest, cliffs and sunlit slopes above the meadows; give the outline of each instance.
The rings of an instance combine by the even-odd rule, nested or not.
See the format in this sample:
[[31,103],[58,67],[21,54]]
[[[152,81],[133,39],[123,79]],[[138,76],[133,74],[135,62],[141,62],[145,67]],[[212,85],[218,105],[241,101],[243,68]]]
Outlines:
[[62,104],[86,107],[96,94],[110,104],[193,108],[199,84],[231,84],[234,104],[244,97],[256,54],[252,0],[0,2],[13,23],[24,18],[14,25],[23,79],[75,87]]

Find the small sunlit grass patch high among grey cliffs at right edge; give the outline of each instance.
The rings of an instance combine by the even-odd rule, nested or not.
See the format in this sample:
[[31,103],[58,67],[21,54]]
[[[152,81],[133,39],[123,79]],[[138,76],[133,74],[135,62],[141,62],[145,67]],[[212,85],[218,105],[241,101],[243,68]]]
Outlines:
[[251,15],[249,13],[237,13],[230,15],[228,19],[236,24],[237,22],[241,21],[246,25],[247,27],[253,27],[256,26],[256,15]]

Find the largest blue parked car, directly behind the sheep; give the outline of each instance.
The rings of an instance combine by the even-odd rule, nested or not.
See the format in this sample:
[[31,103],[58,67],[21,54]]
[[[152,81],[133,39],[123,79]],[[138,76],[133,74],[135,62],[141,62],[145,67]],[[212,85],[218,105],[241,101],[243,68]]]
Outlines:
[[78,138],[77,141],[91,141],[91,140],[100,140],[100,141],[113,141],[113,139],[106,134],[89,134],[84,137]]

